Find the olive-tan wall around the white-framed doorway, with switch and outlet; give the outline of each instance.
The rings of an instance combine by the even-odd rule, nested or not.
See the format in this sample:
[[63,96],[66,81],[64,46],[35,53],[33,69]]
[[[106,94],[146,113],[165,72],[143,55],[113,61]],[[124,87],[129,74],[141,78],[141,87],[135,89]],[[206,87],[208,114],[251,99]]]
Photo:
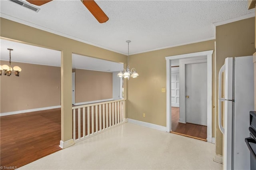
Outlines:
[[[166,88],[165,57],[207,50],[214,50],[214,40],[131,55],[130,67],[135,67],[140,77],[128,80],[127,117],[165,127],[166,93],[161,92],[162,88]],[[214,54],[212,60],[215,64]],[[214,99],[214,88],[212,94]],[[142,117],[142,113],[146,113],[146,117]],[[212,113],[214,118],[214,109]],[[214,119],[212,125],[214,127]],[[212,134],[214,136],[214,131]]]

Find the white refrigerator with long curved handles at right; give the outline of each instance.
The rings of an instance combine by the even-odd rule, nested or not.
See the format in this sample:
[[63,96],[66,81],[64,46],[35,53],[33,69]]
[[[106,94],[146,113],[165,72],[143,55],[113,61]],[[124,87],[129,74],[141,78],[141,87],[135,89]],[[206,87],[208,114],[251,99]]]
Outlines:
[[250,170],[248,137],[254,110],[252,56],[228,57],[219,72],[219,128],[223,133],[223,169]]

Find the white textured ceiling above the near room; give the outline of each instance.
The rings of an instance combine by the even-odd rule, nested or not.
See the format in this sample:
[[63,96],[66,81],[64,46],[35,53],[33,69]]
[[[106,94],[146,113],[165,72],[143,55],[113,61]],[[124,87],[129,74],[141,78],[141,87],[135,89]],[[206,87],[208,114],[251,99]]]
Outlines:
[[214,39],[213,23],[253,16],[247,0],[97,0],[109,17],[100,24],[80,0],[53,0],[38,13],[0,1],[1,17],[118,53],[130,54]]

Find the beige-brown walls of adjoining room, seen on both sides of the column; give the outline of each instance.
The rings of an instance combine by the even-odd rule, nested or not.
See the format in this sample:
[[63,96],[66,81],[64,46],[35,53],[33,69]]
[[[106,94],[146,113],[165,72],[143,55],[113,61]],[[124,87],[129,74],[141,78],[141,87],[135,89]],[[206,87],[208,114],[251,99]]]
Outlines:
[[[0,61],[9,65],[9,61]],[[0,113],[60,105],[60,67],[12,62],[20,76],[0,77]],[[76,103],[112,98],[112,73],[76,71]]]

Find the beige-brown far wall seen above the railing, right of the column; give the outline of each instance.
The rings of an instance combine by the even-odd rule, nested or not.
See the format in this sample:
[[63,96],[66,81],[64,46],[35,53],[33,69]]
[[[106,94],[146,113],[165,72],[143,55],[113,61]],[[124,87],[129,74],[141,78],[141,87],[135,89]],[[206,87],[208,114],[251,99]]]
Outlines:
[[112,99],[112,73],[84,69],[74,71],[76,103]]

